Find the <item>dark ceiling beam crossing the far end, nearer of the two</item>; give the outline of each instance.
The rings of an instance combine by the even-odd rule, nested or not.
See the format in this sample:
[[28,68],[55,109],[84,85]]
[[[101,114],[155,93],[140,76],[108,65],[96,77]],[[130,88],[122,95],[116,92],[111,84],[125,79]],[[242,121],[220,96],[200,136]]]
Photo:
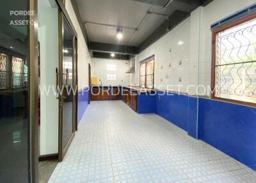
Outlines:
[[116,45],[116,44],[105,44],[100,42],[90,42],[90,51],[99,52],[115,52],[120,54],[138,54],[138,47]]

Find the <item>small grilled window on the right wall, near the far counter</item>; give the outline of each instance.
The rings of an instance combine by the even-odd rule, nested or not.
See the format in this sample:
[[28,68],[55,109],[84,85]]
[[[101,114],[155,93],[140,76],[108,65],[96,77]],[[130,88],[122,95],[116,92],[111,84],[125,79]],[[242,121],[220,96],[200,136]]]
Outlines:
[[154,58],[140,64],[140,87],[154,88]]

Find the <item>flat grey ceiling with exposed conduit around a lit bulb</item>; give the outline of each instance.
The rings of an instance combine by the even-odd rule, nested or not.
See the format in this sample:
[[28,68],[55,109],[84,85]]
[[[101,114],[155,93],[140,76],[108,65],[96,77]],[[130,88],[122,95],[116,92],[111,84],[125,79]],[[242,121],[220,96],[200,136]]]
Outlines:
[[[159,27],[165,26],[164,31],[168,28],[166,16],[184,20],[198,6],[212,0],[74,1],[90,42],[140,47]],[[123,28],[122,40],[116,39],[117,27]]]

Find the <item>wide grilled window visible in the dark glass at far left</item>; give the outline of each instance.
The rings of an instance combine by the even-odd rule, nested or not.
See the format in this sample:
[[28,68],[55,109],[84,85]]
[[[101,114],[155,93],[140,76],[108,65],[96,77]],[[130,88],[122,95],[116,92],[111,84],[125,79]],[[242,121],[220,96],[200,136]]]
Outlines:
[[26,82],[28,82],[28,66],[25,61],[11,54],[0,53],[0,90],[23,88],[26,87]]

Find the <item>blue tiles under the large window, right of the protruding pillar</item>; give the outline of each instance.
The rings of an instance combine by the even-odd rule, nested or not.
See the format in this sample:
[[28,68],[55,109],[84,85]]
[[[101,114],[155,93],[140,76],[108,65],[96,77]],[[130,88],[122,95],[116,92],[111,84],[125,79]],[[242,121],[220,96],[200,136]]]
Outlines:
[[200,138],[255,170],[255,108],[210,99],[199,107]]

